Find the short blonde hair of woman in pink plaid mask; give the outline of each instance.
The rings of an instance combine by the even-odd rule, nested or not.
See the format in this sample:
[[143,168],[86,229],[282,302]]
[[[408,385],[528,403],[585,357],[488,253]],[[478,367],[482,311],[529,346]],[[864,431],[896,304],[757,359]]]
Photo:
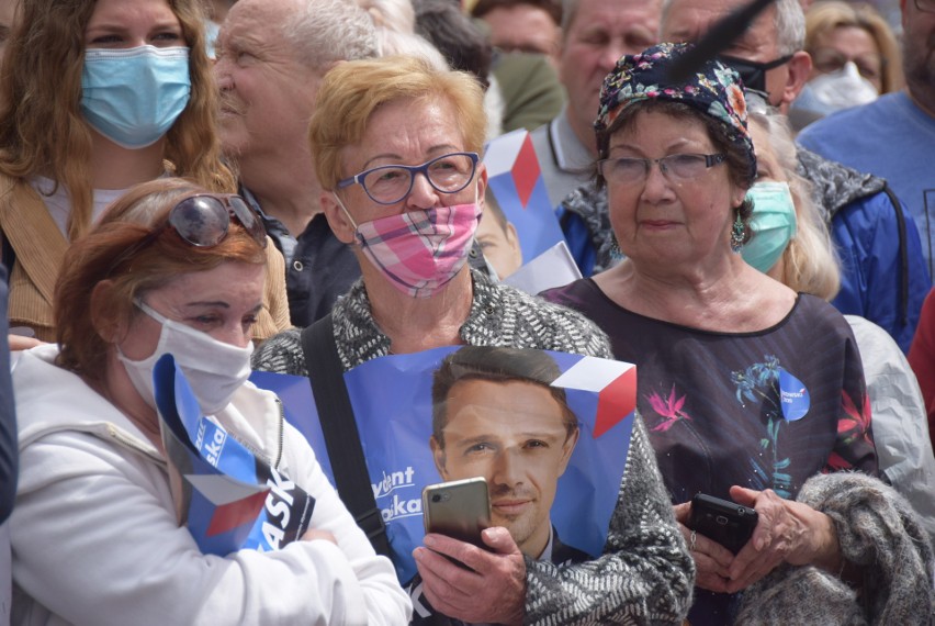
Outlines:
[[360,143],[373,112],[401,100],[450,103],[454,109],[451,124],[460,128],[464,149],[483,150],[487,124],[484,91],[472,75],[407,56],[341,63],[318,87],[308,127],[315,174],[324,189],[334,190],[345,177],[341,149]]

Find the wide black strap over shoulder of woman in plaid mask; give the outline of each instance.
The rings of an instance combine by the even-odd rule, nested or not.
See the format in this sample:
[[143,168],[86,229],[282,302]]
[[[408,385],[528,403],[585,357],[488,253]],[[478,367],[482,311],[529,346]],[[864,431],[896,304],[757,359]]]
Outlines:
[[302,331],[302,349],[338,495],[376,554],[390,557],[386,525],[370,485],[330,313]]

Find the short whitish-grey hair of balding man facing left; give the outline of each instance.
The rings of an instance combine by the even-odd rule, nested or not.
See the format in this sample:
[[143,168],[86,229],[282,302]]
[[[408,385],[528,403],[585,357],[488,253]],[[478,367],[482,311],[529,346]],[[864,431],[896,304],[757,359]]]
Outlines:
[[282,29],[298,59],[327,69],[341,60],[380,56],[380,41],[370,15],[352,0],[304,0]]

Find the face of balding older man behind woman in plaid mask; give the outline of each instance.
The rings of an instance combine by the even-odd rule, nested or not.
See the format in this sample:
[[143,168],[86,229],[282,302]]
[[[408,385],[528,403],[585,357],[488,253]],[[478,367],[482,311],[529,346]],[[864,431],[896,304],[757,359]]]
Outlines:
[[239,0],[221,27],[214,66],[221,138],[245,175],[256,164],[278,163],[284,145],[301,142],[307,149],[320,75],[300,63],[282,36],[296,7],[296,0]]

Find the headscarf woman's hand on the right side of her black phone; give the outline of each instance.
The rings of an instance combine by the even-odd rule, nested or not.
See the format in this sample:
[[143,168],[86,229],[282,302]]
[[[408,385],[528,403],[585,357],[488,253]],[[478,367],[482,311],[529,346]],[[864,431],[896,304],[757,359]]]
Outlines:
[[782,562],[812,564],[834,573],[841,570],[837,533],[824,513],[784,500],[769,489],[754,491],[734,485],[731,498],[756,508],[759,522],[728,570],[729,593],[746,589]]

